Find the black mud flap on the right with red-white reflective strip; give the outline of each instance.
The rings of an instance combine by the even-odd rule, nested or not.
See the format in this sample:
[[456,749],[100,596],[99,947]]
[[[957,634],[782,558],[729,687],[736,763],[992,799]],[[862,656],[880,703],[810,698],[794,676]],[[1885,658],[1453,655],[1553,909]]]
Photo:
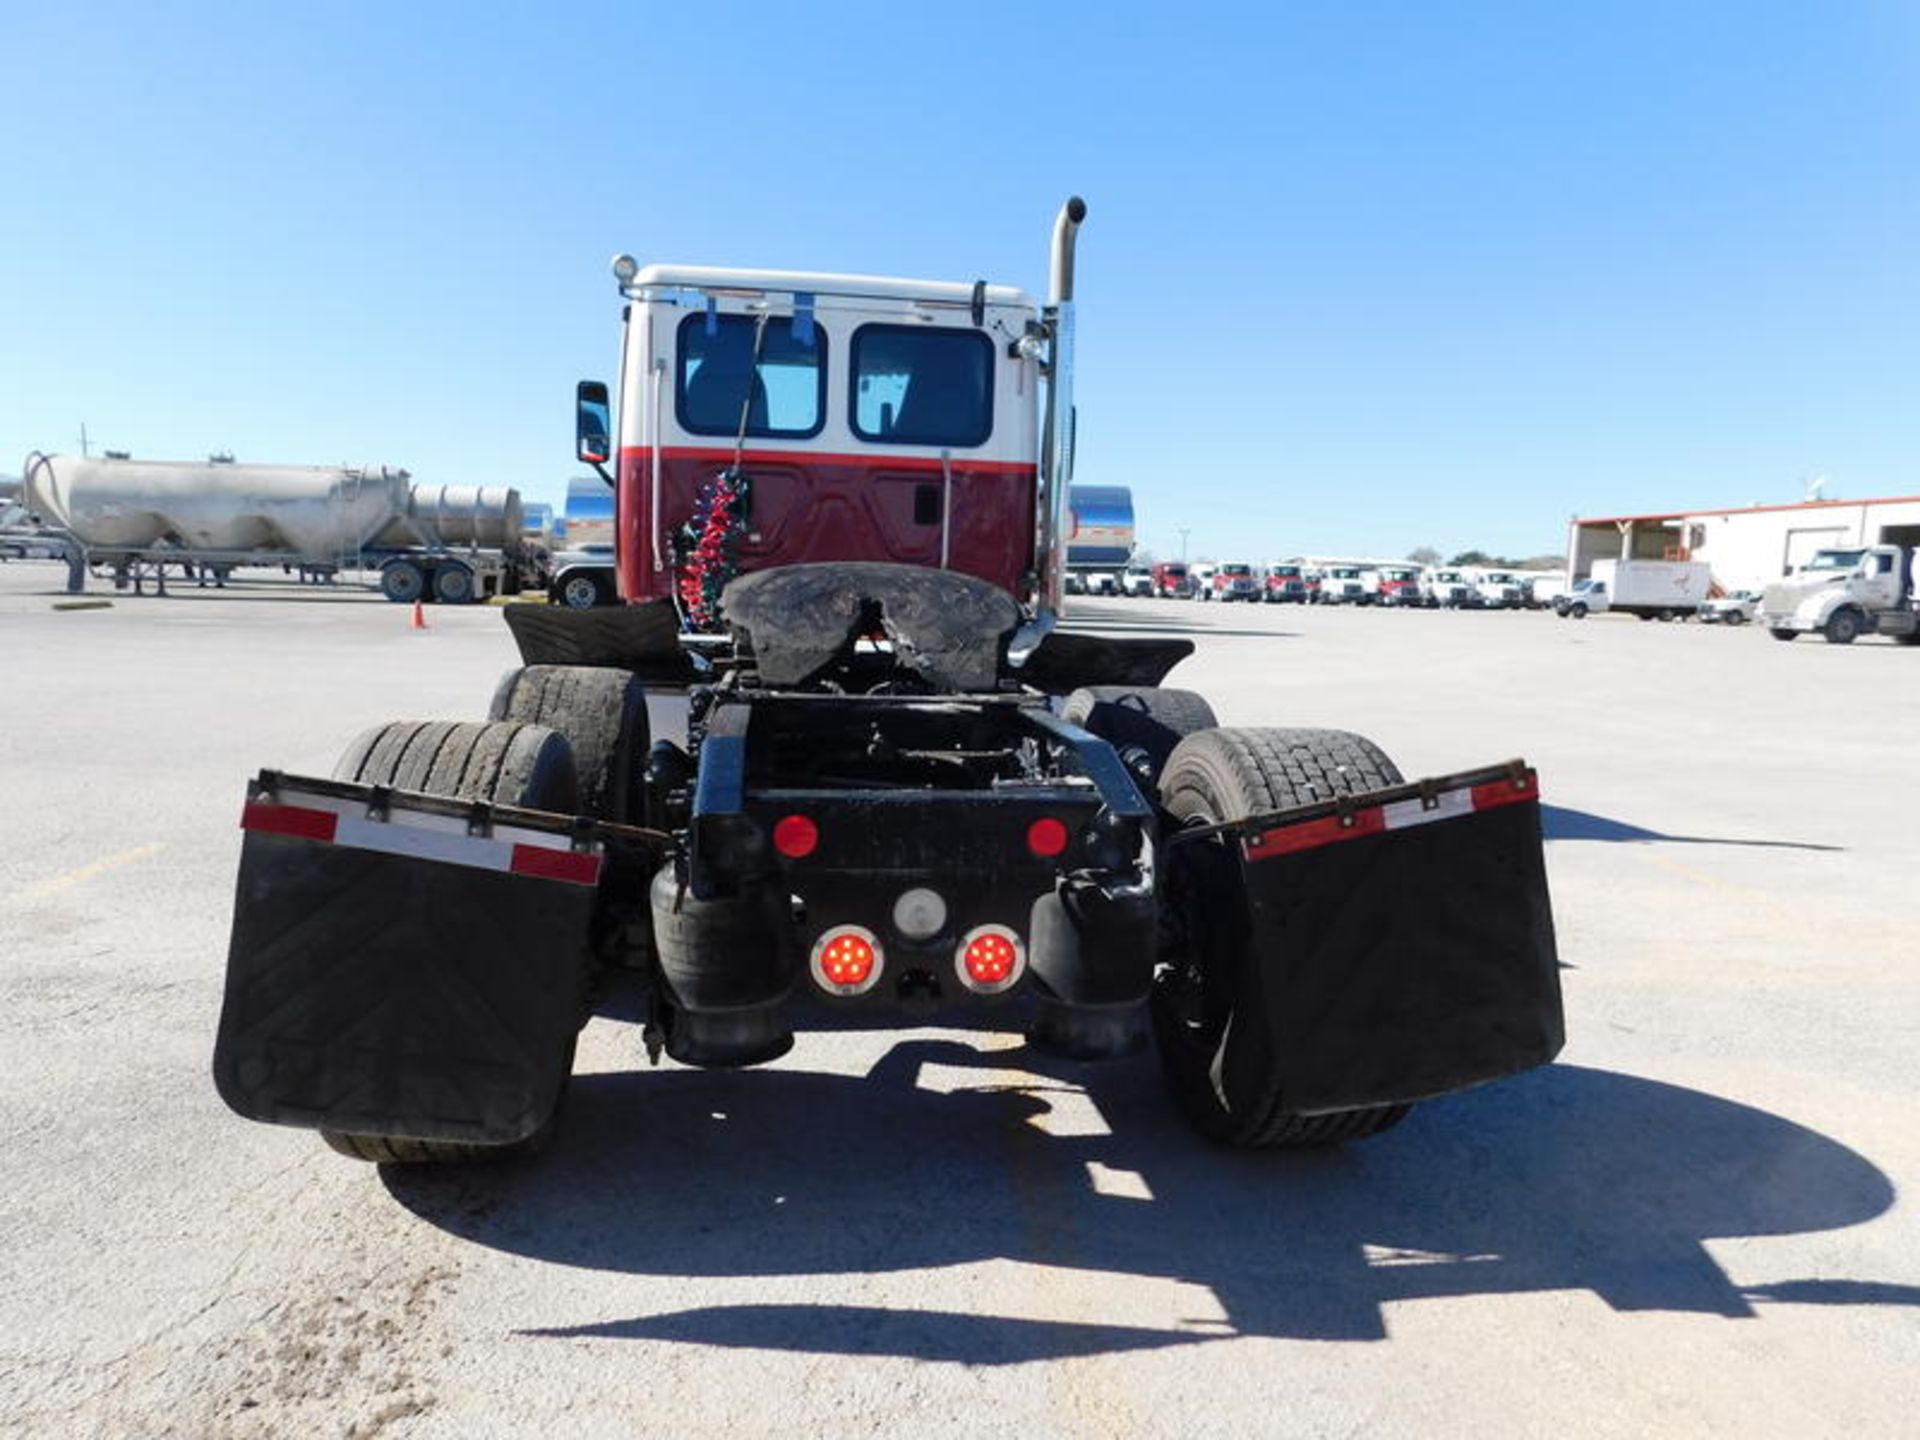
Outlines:
[[1538,780],[1513,764],[1231,828],[1254,964],[1215,1085],[1292,1114],[1402,1104],[1565,1043]]

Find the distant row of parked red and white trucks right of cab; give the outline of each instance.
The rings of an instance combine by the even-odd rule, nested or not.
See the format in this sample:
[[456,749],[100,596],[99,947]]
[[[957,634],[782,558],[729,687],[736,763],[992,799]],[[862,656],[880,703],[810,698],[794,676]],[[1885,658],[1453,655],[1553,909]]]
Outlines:
[[1150,568],[1135,566],[1116,593],[1265,605],[1517,611],[1542,609],[1561,589],[1559,572],[1292,559],[1267,564],[1165,561]]

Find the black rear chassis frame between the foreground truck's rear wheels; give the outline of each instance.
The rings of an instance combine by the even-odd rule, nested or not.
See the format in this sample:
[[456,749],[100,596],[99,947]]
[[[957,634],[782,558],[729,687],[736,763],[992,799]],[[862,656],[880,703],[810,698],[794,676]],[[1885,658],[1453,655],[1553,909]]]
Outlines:
[[[1154,966],[1154,806],[1104,739],[1060,720],[1035,693],[820,695],[693,693],[697,764],[685,801],[685,845],[657,883],[657,912],[680,902],[785,897],[776,931],[735,952],[732,977],[703,998],[662,970],[682,1012],[797,1002],[808,1023],[864,1023],[900,1006],[1004,1008],[1025,1002],[1029,1025],[1056,1048],[1098,1054],[1144,1037]],[[781,854],[774,828],[812,822],[818,843]],[[1066,831],[1060,854],[1029,845],[1035,822]],[[662,870],[660,881],[668,881]],[[908,935],[895,902],[933,891],[945,924]],[[1004,925],[1025,950],[1021,979],[973,993],[960,968],[966,937]],[[833,995],[808,956],[843,925],[872,933],[881,977]],[[776,1027],[783,1029],[783,1027]]]

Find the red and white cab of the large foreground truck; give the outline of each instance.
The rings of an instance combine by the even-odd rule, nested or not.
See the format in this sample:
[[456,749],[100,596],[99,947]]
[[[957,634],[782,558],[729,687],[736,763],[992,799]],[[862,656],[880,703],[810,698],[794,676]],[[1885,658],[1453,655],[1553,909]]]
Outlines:
[[[1037,599],[1035,528],[1010,522],[1039,505],[1033,298],[626,257],[614,273],[622,386],[614,405],[582,386],[580,445],[612,467],[622,599],[672,599],[710,626],[724,580],[818,561],[958,570]],[[728,478],[749,467],[751,484]]]

